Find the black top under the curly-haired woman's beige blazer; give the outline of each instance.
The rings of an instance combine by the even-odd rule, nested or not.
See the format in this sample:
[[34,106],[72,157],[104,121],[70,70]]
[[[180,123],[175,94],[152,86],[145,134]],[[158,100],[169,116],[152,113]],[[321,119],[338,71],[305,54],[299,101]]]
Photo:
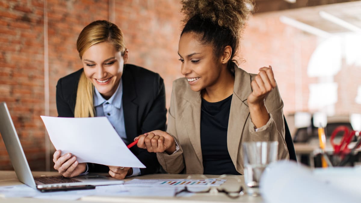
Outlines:
[[232,95],[220,102],[201,104],[201,148],[204,174],[237,174],[227,148]]

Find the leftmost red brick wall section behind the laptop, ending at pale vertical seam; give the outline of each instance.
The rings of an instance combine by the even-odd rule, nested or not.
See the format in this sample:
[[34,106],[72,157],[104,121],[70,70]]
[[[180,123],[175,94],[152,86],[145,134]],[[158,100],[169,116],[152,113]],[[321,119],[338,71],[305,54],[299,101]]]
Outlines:
[[[0,1],[0,101],[8,104],[31,168],[44,166],[42,1]],[[0,169],[12,165],[0,141]]]

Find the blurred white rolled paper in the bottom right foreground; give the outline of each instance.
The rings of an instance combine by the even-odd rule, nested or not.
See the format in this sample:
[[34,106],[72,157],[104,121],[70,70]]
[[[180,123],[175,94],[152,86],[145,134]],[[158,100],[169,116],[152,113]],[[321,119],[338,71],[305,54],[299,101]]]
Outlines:
[[267,203],[359,203],[361,168],[311,170],[293,161],[270,164],[260,191]]

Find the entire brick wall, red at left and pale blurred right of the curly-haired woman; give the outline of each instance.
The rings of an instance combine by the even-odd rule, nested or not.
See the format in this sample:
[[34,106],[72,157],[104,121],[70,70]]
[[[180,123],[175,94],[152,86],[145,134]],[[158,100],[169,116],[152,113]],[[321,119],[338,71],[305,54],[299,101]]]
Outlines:
[[[45,1],[48,13],[48,41],[44,43],[44,4],[40,0],[0,0],[0,102],[8,104],[15,128],[32,170],[45,170],[45,129],[40,115],[45,112],[44,51],[49,59],[49,115],[57,116],[57,80],[82,67],[76,50],[77,37],[94,20],[112,19],[124,32],[132,64],[160,73],[166,85],[169,105],[172,81],[182,77],[177,60],[181,30],[178,0],[127,1]],[[272,65],[284,100],[284,112],[308,111],[306,68],[317,46],[315,36],[283,25],[279,14],[254,16],[247,26],[240,49],[240,66],[257,73]],[[45,52],[46,53],[46,52]],[[245,62],[241,62],[242,59]],[[347,66],[335,77],[344,82],[336,105],[349,113],[360,105],[355,94],[357,75],[344,81],[349,71],[360,75],[360,68]],[[359,81],[359,80],[358,80]],[[357,83],[357,82],[356,82]],[[297,91],[296,91],[297,90]],[[351,102],[350,102],[351,101]],[[0,139],[1,140],[1,139]],[[48,153],[52,156],[53,149]],[[52,167],[52,164],[51,164]],[[12,169],[3,141],[0,141],[0,170]]]

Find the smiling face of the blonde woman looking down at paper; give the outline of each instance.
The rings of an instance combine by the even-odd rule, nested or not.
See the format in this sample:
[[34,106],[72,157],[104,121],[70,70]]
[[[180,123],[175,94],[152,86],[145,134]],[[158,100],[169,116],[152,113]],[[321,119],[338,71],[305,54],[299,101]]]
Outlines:
[[122,56],[107,42],[94,44],[83,53],[84,73],[104,99],[109,99],[117,90],[127,59],[127,50]]

